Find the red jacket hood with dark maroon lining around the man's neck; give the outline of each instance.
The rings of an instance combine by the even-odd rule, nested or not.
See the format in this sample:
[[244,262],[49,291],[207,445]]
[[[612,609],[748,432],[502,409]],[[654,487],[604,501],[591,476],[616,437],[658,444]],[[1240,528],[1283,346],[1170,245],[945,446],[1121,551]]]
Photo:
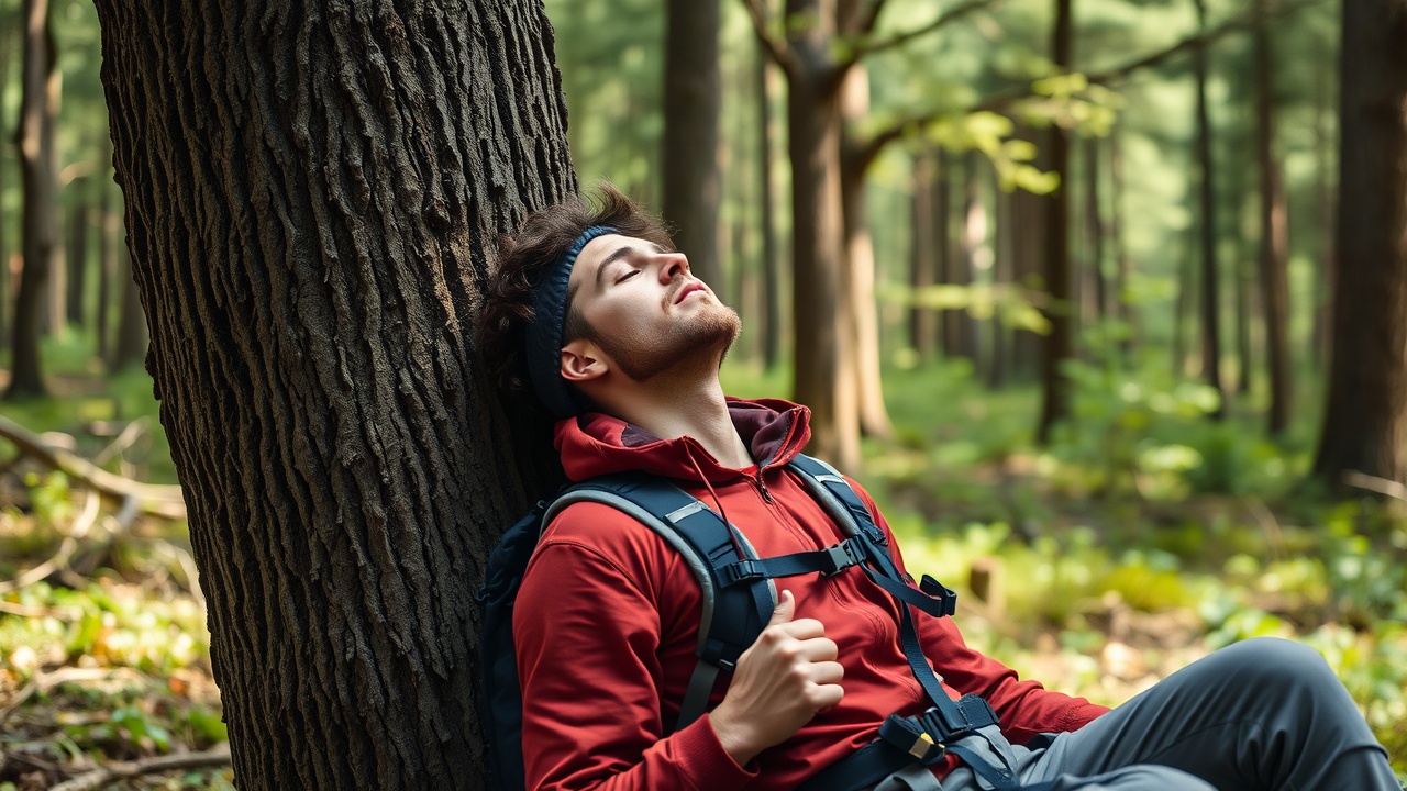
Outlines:
[[[810,410],[781,398],[727,400],[739,436],[758,467],[789,462],[810,441]],[[601,412],[557,422],[556,446],[573,481],[608,473],[647,470],[657,476],[726,483],[743,470],[723,467],[691,436],[660,439]]]

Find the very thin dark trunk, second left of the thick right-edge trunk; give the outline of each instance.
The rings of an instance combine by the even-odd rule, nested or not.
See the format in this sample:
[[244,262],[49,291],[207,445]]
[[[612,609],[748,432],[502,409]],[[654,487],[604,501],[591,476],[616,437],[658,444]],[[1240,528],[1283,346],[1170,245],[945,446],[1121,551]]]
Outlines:
[[[1207,30],[1207,6],[1196,0],[1197,30]],[[1211,118],[1207,114],[1207,46],[1199,44],[1193,55],[1193,70],[1197,80],[1197,193],[1202,205],[1202,220],[1197,224],[1197,241],[1202,251],[1202,379],[1217,391],[1214,419],[1225,414],[1225,388],[1221,386],[1221,297],[1220,267],[1217,266],[1217,203],[1211,165]]]

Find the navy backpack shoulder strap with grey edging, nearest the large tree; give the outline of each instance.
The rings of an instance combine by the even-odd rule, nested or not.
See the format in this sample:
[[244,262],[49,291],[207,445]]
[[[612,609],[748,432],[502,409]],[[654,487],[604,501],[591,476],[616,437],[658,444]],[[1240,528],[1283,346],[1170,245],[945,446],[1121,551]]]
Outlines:
[[653,529],[688,563],[702,591],[699,657],[689,677],[675,730],[694,722],[708,708],[720,670],[732,670],[771,619],[777,588],[771,580],[725,584],[722,569],[757,559],[747,539],[694,495],[666,479],[644,473],[618,473],[581,481],[547,507],[542,524],[574,502],[611,505]]

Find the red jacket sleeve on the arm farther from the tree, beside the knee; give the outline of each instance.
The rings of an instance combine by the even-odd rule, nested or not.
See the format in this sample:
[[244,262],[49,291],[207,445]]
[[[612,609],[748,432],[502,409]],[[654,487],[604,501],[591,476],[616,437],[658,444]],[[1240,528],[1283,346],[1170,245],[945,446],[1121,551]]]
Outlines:
[[[857,491],[889,539],[899,570],[908,573],[899,543],[884,515],[868,493],[860,487]],[[943,683],[961,694],[975,692],[986,698],[1002,721],[1002,733],[1014,745],[1024,745],[1038,733],[1078,730],[1109,711],[1085,698],[1045,690],[1038,681],[1021,681],[1010,667],[968,646],[953,618],[930,618],[920,612],[915,625],[923,653]]]

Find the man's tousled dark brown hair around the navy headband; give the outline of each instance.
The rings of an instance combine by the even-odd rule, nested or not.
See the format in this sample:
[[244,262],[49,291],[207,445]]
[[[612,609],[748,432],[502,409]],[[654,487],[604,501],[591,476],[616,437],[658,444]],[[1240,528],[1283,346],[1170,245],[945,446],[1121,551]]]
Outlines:
[[[625,236],[654,242],[674,252],[668,227],[640,208],[609,183],[599,184],[597,200],[581,196],[535,211],[516,234],[499,236],[498,269],[484,293],[478,314],[478,341],[484,362],[505,393],[530,390],[523,360],[523,334],[533,319],[533,297],[546,270],[561,259],[577,236],[592,225],[609,225]],[[581,318],[567,293],[561,342],[590,336],[591,328]]]

